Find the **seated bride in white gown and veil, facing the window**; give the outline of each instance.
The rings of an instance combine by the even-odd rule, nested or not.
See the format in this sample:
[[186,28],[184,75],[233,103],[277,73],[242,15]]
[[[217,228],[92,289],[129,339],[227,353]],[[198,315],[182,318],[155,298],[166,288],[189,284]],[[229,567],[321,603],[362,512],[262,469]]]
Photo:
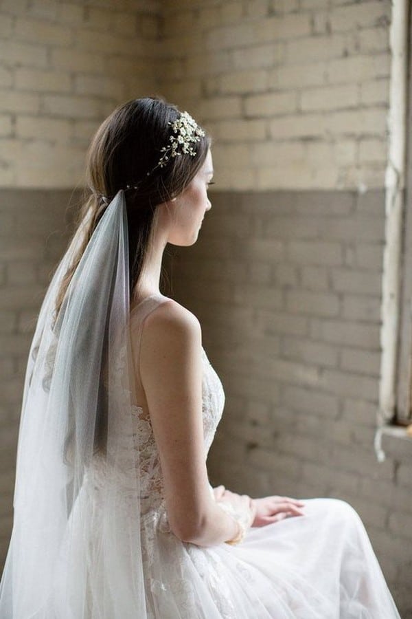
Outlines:
[[210,144],[160,98],[91,142],[27,362],[1,619],[399,618],[348,503],[209,484],[225,393],[159,281],[209,216]]

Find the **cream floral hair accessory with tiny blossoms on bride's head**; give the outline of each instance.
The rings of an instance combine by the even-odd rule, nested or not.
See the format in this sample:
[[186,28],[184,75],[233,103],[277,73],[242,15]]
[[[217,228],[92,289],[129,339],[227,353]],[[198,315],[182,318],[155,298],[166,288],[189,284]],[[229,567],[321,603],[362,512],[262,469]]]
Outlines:
[[164,168],[170,159],[178,155],[187,154],[194,157],[196,151],[193,148],[193,144],[195,142],[200,142],[201,138],[205,135],[205,131],[198,126],[196,120],[194,120],[187,111],[182,112],[179,118],[176,118],[174,122],[169,122],[168,124],[172,127],[169,144],[160,149],[163,155],[161,155],[155,167],[147,173],[148,176],[156,168]]

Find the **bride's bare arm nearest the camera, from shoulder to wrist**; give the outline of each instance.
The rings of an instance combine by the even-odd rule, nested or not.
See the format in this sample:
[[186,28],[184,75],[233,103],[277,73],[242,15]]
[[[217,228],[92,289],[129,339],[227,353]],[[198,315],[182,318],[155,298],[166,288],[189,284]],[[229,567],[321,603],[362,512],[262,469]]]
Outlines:
[[[201,325],[170,300],[144,323],[139,368],[159,451],[166,509],[182,541],[213,545],[233,539],[236,521],[209,489],[202,419]],[[249,497],[240,507],[250,510]],[[252,514],[252,512],[251,512]]]

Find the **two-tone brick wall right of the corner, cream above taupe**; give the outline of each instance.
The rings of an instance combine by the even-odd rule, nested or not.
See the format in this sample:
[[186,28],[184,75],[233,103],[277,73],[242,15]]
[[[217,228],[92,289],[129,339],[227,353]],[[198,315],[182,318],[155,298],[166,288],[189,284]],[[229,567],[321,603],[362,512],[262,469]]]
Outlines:
[[227,394],[211,481],[349,501],[411,618],[411,446],[373,448],[391,3],[165,8],[162,89],[215,138],[212,210],[172,260]]

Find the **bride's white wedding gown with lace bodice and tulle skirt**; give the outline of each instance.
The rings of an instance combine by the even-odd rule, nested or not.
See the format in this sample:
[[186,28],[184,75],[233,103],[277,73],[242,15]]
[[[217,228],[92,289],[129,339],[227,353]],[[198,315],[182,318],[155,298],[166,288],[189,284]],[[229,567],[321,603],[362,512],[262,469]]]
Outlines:
[[[132,310],[134,350],[138,350],[144,318],[166,299],[154,295]],[[225,393],[204,349],[203,366],[206,458],[222,416]],[[304,500],[304,516],[251,528],[245,541],[236,546],[220,543],[199,547],[180,541],[168,524],[150,420],[144,418],[141,407],[136,407],[133,419],[141,454],[141,541],[148,617],[400,618],[363,523],[345,501]],[[87,480],[82,496],[84,501],[93,497],[88,540],[93,547],[104,469],[96,465]],[[133,505],[126,501],[125,508],[133,510]],[[92,569],[97,570],[97,566]]]

